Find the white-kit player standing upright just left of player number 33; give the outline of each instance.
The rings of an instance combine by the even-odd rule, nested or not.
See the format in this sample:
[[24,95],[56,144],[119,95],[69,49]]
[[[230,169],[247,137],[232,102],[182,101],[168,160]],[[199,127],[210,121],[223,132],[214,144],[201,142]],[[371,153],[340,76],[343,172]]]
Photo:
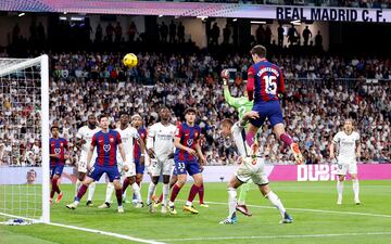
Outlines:
[[147,205],[151,213],[156,209],[152,204],[152,195],[159,183],[159,178],[163,175],[163,204],[162,214],[167,213],[169,175],[174,164],[174,138],[176,127],[169,123],[171,112],[167,107],[160,110],[161,121],[151,126],[148,131],[147,152],[151,157],[152,180],[148,189]]

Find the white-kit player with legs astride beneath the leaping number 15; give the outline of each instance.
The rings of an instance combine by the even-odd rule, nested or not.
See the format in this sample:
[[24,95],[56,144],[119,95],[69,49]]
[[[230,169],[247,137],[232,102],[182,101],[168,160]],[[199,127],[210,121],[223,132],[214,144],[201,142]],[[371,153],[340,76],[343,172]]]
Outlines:
[[[237,206],[237,189],[248,182],[250,179],[258,185],[262,195],[267,198],[280,213],[282,220],[280,223],[291,223],[293,222],[292,217],[285,209],[281,201],[278,198],[276,193],[274,193],[268,183],[267,176],[264,171],[264,159],[254,155],[250,156],[250,152],[245,147],[245,131],[244,126],[249,119],[255,119],[260,115],[257,112],[251,111],[243,115],[242,119],[234,124],[229,119],[224,119],[220,124],[222,134],[225,138],[232,137],[236,146],[238,147],[240,154],[241,164],[235,176],[228,182],[228,217],[220,221],[223,224],[232,224],[237,222],[236,216],[236,206]],[[254,143],[257,145],[257,143]],[[256,146],[257,147],[257,146]],[[255,152],[255,151],[254,151]],[[256,152],[258,150],[256,149]]]

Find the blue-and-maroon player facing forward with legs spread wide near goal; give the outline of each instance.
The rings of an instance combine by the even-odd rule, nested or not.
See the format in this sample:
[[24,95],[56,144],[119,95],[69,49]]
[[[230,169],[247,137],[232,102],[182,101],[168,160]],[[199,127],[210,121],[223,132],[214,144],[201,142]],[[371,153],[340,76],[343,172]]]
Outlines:
[[116,162],[116,152],[119,150],[119,154],[124,162],[124,170],[127,171],[129,168],[126,164],[126,156],[122,144],[121,136],[116,130],[109,129],[109,117],[108,115],[101,115],[99,117],[101,131],[97,132],[92,137],[91,146],[87,155],[87,167],[92,157],[92,153],[97,147],[97,159],[91,168],[88,168],[88,175],[84,179],[83,184],[75,197],[75,202],[66,205],[70,209],[75,209],[80,203],[83,195],[86,193],[88,185],[93,181],[99,181],[101,176],[105,172],[109,177],[110,182],[114,183],[115,195],[118,203],[118,213],[124,213],[122,206],[122,185],[121,185],[121,174]]

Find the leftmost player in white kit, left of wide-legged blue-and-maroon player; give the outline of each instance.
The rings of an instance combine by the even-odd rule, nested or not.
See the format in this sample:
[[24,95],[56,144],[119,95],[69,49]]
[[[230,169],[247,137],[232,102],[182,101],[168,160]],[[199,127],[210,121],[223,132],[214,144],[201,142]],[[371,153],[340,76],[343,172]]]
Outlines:
[[[81,147],[80,158],[77,165],[78,179],[75,187],[75,196],[81,185],[81,182],[87,174],[87,155],[91,144],[91,140],[94,133],[100,130],[97,127],[97,118],[94,115],[88,115],[87,125],[81,127],[76,133],[76,144]],[[90,167],[94,164],[97,158],[97,151],[93,151],[92,158],[90,160]],[[96,189],[96,183],[91,183],[88,188],[87,206],[92,206],[92,197]]]

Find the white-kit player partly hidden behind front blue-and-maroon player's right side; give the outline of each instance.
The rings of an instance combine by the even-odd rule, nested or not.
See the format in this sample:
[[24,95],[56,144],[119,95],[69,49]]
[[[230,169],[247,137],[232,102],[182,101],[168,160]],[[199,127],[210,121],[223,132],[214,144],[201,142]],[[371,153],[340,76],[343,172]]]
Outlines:
[[[129,125],[129,115],[127,113],[121,113],[119,116],[119,127],[115,129],[116,131],[118,131],[123,145],[124,145],[124,150],[125,150],[125,155],[127,158],[127,167],[128,170],[123,172],[123,176],[125,177],[124,183],[123,183],[123,193],[126,191],[128,185],[131,185],[131,189],[136,195],[137,198],[137,208],[141,208],[143,207],[143,203],[142,203],[142,198],[141,198],[141,194],[140,194],[140,187],[136,183],[136,165],[135,165],[135,160],[134,160],[134,144],[135,142],[139,142],[140,143],[140,147],[141,150],[144,150],[144,144],[143,142],[140,140],[140,136],[138,133],[138,131],[131,127]],[[117,163],[118,163],[118,168],[123,168],[123,160],[121,158],[119,153],[117,153]],[[106,189],[106,198],[104,201],[104,203],[99,206],[99,208],[109,208],[110,207],[110,202],[111,202],[111,196],[113,194],[114,191],[114,185],[113,183],[108,183],[108,189]]]

